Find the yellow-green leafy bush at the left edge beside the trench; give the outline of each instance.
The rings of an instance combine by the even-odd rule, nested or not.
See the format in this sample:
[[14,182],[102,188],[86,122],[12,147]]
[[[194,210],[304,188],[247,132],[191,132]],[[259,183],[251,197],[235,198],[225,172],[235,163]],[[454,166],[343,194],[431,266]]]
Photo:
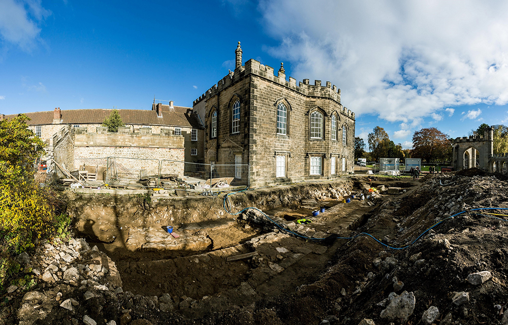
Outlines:
[[59,227],[55,194],[34,181],[33,164],[44,143],[25,115],[0,121],[0,295],[20,269],[16,254]]

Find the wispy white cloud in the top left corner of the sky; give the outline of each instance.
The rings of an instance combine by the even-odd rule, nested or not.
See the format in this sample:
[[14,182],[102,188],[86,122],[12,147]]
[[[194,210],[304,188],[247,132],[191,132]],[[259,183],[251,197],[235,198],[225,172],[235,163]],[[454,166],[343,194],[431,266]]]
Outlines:
[[41,0],[0,1],[0,42],[30,51],[41,41],[39,23],[49,15]]

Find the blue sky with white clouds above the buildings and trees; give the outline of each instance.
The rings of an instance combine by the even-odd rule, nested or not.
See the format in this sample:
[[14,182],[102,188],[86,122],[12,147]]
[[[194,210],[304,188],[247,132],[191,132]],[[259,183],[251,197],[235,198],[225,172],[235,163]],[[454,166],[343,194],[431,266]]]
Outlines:
[[0,113],[192,107],[241,41],[244,62],[337,85],[365,143],[378,125],[410,148],[424,127],[508,124],[507,15],[503,1],[0,0]]

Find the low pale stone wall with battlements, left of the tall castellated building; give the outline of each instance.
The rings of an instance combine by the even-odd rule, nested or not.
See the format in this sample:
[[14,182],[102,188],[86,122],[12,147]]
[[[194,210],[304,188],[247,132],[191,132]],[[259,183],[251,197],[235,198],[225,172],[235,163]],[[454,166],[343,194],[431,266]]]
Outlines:
[[[93,180],[110,178],[138,180],[145,176],[184,174],[184,137],[170,128],[153,134],[150,127],[130,132],[121,127],[118,133],[98,126],[96,132],[87,127],[66,125],[53,136],[53,160],[69,171],[86,171]],[[56,170],[64,176],[61,170]]]

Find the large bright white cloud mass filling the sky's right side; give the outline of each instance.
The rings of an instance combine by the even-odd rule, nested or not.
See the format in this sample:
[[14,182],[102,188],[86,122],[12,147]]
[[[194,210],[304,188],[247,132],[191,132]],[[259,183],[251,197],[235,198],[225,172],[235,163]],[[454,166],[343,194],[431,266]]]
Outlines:
[[508,2],[262,0],[259,10],[292,77],[332,81],[357,115],[414,125],[444,107],[508,103]]

